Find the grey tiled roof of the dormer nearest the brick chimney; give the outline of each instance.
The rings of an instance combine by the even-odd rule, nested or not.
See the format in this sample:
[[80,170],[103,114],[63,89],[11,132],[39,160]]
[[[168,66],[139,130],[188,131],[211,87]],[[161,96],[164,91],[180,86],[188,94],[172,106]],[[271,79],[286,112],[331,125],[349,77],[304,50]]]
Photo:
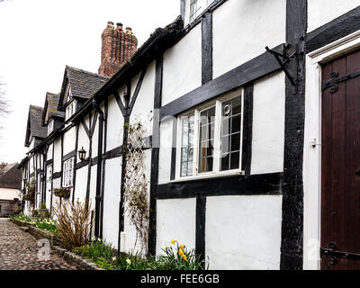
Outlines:
[[110,79],[108,76],[87,72],[75,67],[66,67],[67,78],[73,97],[88,99]]

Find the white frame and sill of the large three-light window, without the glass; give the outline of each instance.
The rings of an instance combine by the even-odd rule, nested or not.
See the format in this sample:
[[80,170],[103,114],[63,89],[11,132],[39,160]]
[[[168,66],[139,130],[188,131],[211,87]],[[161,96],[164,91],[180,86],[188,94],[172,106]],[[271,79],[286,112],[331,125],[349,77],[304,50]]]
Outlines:
[[[242,146],[243,146],[243,130],[244,130],[244,90],[241,88],[235,92],[221,96],[216,100],[204,103],[192,111],[184,112],[177,118],[177,137],[176,137],[176,163],[175,163],[175,180],[171,182],[182,182],[198,180],[201,178],[213,178],[226,175],[244,175],[242,170]],[[220,155],[221,155],[221,117],[222,117],[222,103],[227,102],[233,98],[241,97],[241,135],[239,148],[239,164],[238,169],[220,171]],[[215,106],[215,130],[214,130],[214,152],[212,171],[199,173],[199,129],[200,129],[200,115],[202,111],[208,110]],[[181,176],[181,148],[182,148],[182,118],[194,115],[194,132],[193,132],[193,175]]]

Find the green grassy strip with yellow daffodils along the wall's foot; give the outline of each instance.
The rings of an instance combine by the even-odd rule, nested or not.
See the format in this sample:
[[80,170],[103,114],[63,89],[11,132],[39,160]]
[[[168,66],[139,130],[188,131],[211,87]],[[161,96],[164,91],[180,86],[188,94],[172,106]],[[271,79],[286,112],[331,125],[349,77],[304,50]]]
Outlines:
[[139,254],[116,257],[114,248],[99,239],[90,244],[76,247],[73,252],[94,262],[107,270],[199,270],[204,261],[192,251],[187,251],[184,245],[173,241],[171,247],[164,247],[163,255],[148,258]]

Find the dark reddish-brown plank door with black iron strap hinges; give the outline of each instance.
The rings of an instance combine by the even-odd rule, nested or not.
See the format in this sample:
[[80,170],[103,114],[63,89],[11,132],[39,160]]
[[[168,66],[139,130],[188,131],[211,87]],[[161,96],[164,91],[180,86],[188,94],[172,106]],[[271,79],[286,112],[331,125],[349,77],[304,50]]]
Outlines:
[[360,51],[322,80],[321,269],[360,269]]

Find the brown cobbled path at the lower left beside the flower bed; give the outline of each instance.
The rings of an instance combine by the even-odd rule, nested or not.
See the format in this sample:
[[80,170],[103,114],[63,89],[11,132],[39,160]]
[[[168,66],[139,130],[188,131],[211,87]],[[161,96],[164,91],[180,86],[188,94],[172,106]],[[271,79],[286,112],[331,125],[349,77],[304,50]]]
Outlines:
[[0,270],[77,270],[54,251],[40,260],[38,241],[12,221],[0,218]]

